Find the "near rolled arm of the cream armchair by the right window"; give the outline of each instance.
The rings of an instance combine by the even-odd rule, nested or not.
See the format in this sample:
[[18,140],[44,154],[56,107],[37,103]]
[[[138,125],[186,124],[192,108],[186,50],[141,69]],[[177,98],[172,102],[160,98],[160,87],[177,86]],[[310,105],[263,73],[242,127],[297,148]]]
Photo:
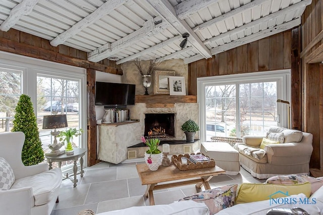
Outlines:
[[297,165],[309,163],[313,147],[304,142],[271,144],[264,147],[267,161],[276,165]]

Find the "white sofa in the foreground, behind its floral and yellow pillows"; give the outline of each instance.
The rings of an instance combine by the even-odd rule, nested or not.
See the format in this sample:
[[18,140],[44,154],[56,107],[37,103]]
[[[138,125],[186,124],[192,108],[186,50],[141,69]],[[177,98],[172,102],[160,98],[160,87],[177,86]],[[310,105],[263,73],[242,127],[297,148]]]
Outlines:
[[[304,194],[292,195],[291,198],[304,199]],[[271,208],[292,208],[300,207],[303,208],[311,215],[323,214],[323,186],[314,192],[307,204],[295,203],[290,204],[271,204],[270,200],[256,201],[249,203],[236,204],[232,207],[225,208],[217,213],[217,215],[263,215],[266,214]],[[313,200],[314,199],[314,200]],[[322,211],[322,212],[321,212]],[[85,215],[89,213],[79,213],[79,215]],[[153,205],[153,206],[138,206],[129,207],[122,210],[107,211],[97,213],[97,215],[151,215],[151,214],[177,214],[177,215],[204,215],[209,214],[209,211],[204,203],[197,203],[192,200],[179,201],[168,205]]]

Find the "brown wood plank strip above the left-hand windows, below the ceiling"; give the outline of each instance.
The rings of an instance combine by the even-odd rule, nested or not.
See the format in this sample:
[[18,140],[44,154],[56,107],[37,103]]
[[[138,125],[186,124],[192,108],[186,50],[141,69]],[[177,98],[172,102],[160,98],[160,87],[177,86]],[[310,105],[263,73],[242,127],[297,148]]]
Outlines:
[[87,60],[87,52],[66,45],[51,46],[49,40],[10,29],[8,32],[0,31],[0,51],[11,52],[24,56],[43,60],[92,68],[106,73],[122,75],[121,65],[115,61],[101,60],[90,62]]

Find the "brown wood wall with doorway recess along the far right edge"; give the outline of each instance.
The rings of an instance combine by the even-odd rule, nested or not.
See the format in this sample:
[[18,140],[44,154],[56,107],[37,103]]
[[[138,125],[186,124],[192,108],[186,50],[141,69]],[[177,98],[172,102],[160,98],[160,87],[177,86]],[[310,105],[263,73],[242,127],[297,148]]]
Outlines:
[[302,129],[313,134],[310,173],[323,176],[323,3],[312,0],[302,15]]

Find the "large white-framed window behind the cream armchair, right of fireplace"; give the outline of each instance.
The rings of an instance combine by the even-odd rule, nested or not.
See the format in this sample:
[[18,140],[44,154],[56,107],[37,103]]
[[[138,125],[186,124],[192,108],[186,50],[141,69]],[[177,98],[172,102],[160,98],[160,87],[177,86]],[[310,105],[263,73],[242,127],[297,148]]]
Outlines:
[[202,141],[212,136],[264,135],[272,125],[287,125],[287,112],[276,101],[289,98],[289,77],[284,70],[199,78]]

